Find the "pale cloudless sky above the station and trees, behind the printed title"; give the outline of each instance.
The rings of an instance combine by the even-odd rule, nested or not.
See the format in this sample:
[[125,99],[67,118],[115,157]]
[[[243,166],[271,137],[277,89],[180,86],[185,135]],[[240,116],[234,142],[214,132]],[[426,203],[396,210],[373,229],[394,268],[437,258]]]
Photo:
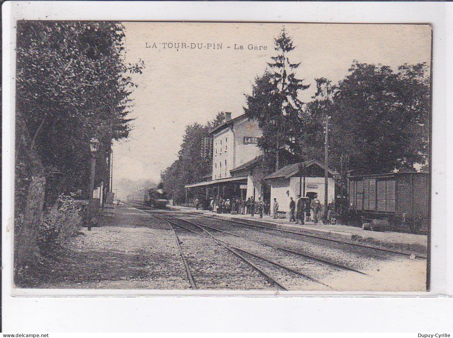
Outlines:
[[[255,77],[265,71],[270,57],[276,54],[274,38],[283,26],[296,47],[289,59],[301,63],[296,76],[311,84],[299,93],[304,102],[316,91],[314,78],[325,77],[336,83],[347,75],[353,60],[396,69],[405,63],[429,64],[431,53],[429,25],[123,25],[126,63],[143,60],[145,69],[133,75],[138,88],[131,94],[134,108],[130,117],[135,120],[130,137],[113,147],[114,189],[120,188],[122,179],[159,181],[160,171],[177,159],[188,124],[205,123],[221,111],[231,112],[233,118],[241,115],[244,94],[251,93]],[[249,49],[250,44],[257,49]]]

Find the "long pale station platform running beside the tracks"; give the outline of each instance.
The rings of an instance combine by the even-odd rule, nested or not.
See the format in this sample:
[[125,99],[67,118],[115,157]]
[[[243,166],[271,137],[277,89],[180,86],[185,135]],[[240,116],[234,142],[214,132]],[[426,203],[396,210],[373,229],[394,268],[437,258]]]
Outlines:
[[393,231],[371,231],[363,230],[360,227],[349,225],[328,225],[323,224],[321,221],[318,224],[313,222],[306,222],[304,225],[289,222],[287,218],[274,219],[272,216],[264,215],[260,218],[259,215],[252,217],[251,215],[232,215],[232,214],[217,214],[208,210],[196,210],[193,207],[186,206],[168,206],[171,209],[188,211],[193,213],[202,214],[205,216],[226,218],[230,220],[243,221],[246,223],[260,224],[274,226],[276,228],[294,230],[294,231],[308,231],[312,234],[319,235],[335,240],[344,240],[348,242],[357,242],[381,248],[398,250],[405,253],[414,253],[419,255],[427,255],[428,252],[428,236],[415,235]]

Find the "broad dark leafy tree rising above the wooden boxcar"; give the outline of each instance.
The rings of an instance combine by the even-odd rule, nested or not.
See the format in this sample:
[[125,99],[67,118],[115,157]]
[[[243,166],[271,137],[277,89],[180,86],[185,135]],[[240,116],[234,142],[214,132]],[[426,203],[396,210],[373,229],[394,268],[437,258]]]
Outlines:
[[334,161],[341,153],[351,168],[371,173],[413,169],[429,155],[429,68],[354,62],[334,88],[331,106]]

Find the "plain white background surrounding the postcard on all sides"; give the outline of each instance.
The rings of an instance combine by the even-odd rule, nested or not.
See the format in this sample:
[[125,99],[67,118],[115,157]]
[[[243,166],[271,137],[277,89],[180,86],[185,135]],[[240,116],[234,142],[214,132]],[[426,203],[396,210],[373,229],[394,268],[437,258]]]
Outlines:
[[[450,22],[446,20],[447,16]],[[449,3],[14,2],[3,5],[2,312],[4,332],[452,332],[452,29]],[[429,23],[434,31],[432,287],[428,296],[12,297],[16,20]],[[448,25],[448,26],[447,26]],[[447,34],[448,32],[448,34]],[[448,42],[448,43],[447,43]],[[448,50],[446,49],[448,46]],[[446,67],[446,53],[450,64]],[[445,75],[447,74],[447,76]],[[446,81],[448,79],[448,81]],[[446,95],[448,93],[448,95]],[[446,104],[448,106],[446,107]],[[446,118],[445,112],[450,112]],[[447,127],[447,132],[446,128]],[[448,142],[448,143],[446,143]],[[450,190],[446,193],[446,186]],[[448,221],[448,228],[446,226]],[[106,292],[108,294],[108,292]],[[415,335],[414,335],[415,337]]]

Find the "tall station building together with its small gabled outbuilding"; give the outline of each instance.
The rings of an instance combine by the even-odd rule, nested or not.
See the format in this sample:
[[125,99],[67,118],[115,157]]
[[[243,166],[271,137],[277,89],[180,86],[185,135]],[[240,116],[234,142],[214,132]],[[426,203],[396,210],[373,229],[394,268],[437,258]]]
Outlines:
[[[316,160],[290,164],[265,176],[260,166],[262,151],[258,147],[261,135],[258,121],[245,114],[231,119],[231,113],[226,113],[226,121],[210,131],[210,142],[203,140],[212,144],[210,151],[204,150],[212,156],[212,172],[202,177],[201,182],[186,185],[186,190],[192,190],[192,196],[206,199],[213,196],[230,199],[251,197],[257,201],[262,197],[272,204],[276,198],[279,210],[289,211],[290,197],[297,200],[299,193],[303,195],[301,184],[305,181],[305,196],[313,198],[318,195],[323,205],[324,164]],[[329,203],[335,198],[337,175],[337,171],[328,169]],[[262,182],[267,183],[267,191]]]

